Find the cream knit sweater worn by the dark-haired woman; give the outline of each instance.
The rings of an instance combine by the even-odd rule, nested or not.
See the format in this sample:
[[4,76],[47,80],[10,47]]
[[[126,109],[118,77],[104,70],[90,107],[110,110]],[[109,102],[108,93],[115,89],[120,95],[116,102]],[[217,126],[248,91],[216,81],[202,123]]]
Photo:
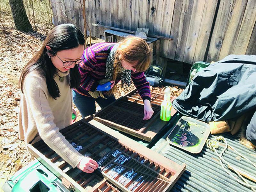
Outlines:
[[[57,70],[59,76],[54,80],[60,89],[60,97],[53,99],[46,86],[45,78],[38,72],[30,72],[23,84],[20,99],[19,137],[26,144],[31,142],[37,133],[44,142],[60,155],[73,168],[80,162],[83,155],[77,152],[59,130],[67,127],[72,118],[72,92],[69,87],[69,71]],[[35,141],[33,141],[35,142]]]

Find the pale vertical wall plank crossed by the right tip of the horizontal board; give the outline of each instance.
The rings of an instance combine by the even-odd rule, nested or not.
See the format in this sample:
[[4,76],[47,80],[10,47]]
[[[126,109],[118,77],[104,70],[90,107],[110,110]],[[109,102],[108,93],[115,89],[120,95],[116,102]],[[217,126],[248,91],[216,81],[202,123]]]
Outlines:
[[[161,35],[170,37],[171,35],[171,28],[172,28],[172,18],[173,18],[173,12],[174,12],[174,4],[175,0],[164,0],[163,6],[164,6],[164,12],[163,12],[163,24],[162,24],[162,31]],[[167,40],[160,40],[160,53],[163,57],[168,57],[168,45],[169,41]],[[174,57],[174,56],[173,56]]]

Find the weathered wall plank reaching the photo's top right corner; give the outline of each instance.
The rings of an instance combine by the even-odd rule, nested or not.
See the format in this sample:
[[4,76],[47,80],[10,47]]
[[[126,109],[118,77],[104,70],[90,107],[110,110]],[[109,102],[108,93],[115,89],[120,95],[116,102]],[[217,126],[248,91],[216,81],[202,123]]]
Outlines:
[[256,0],[248,0],[233,54],[245,54],[256,21]]

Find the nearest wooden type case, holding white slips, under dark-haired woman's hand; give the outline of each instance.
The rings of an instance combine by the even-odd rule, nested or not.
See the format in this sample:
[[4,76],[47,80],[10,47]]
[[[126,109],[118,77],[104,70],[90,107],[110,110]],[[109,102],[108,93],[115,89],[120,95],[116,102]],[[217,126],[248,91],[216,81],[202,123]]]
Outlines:
[[81,154],[96,160],[100,169],[91,174],[78,168],[73,169],[43,140],[33,145],[28,144],[28,150],[59,177],[67,188],[73,188],[76,192],[164,192],[172,188],[186,167],[185,164],[179,165],[91,117],[60,132]]

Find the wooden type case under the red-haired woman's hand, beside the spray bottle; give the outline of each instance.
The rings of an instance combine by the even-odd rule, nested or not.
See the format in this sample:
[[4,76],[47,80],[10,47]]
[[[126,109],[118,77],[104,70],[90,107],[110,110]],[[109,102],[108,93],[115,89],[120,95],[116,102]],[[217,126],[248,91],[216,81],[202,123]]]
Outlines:
[[[160,105],[164,95],[151,92],[151,107],[154,114],[149,120],[143,120],[144,105],[136,89],[93,115],[93,118],[108,127],[150,142],[164,127],[166,121],[160,120]],[[171,96],[171,101],[174,97]],[[172,108],[173,116],[176,110]],[[152,126],[158,120],[157,125]]]

